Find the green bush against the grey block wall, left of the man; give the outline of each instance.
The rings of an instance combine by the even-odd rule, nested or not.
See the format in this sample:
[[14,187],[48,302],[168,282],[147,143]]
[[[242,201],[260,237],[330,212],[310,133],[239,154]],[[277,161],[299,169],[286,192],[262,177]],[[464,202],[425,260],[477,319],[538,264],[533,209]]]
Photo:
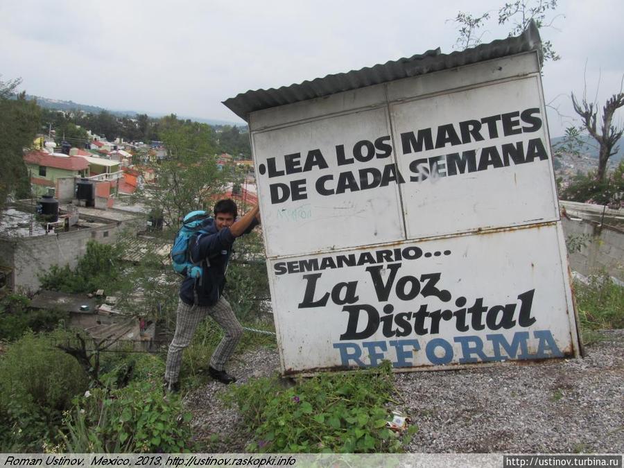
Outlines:
[[40,276],[40,281],[44,289],[70,294],[90,293],[103,284],[114,291],[119,270],[119,251],[114,245],[89,241],[87,252],[78,260],[75,270],[69,265],[53,265],[49,272]]

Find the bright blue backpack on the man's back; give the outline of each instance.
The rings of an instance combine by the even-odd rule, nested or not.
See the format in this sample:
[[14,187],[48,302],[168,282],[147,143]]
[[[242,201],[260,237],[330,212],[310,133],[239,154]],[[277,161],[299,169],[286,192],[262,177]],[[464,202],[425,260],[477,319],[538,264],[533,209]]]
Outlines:
[[[198,263],[191,261],[189,241],[191,237],[196,236],[195,241],[197,242],[203,234],[207,234],[207,231],[202,229],[202,227],[205,225],[206,220],[210,218],[211,216],[206,211],[198,210],[191,211],[182,220],[182,227],[177,232],[171,248],[171,265],[173,270],[183,277],[193,277],[196,280],[202,277],[202,261]],[[209,266],[209,263],[207,263],[207,266]]]

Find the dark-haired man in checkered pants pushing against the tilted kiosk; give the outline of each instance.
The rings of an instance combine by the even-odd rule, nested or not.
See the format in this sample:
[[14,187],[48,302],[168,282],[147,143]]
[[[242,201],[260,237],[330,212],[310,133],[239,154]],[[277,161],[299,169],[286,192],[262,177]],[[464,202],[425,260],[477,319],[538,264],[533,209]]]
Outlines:
[[225,270],[234,240],[243,234],[249,234],[260,222],[257,206],[240,219],[236,219],[236,214],[237,207],[233,200],[219,200],[214,205],[214,219],[207,220],[202,228],[207,234],[201,234],[189,241],[191,261],[201,262],[202,278],[196,283],[196,279],[187,277],[180,286],[175,333],[169,345],[165,370],[167,391],[179,390],[177,379],[182,352],[191,343],[197,325],[206,315],[211,315],[225,332],[212,354],[208,373],[221,383],[236,381],[234,376],[225,372],[225,363],[234,353],[234,348],[243,334],[243,327],[222,295]]

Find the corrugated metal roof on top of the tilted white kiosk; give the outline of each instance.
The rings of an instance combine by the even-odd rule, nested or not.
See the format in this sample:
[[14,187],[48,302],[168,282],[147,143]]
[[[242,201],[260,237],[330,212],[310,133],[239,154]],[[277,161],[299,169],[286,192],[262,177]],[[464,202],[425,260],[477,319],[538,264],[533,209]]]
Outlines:
[[426,51],[410,58],[391,60],[374,67],[365,67],[347,73],[336,73],[300,84],[283,86],[279,89],[258,89],[241,93],[223,101],[234,114],[248,121],[250,112],[297,103],[308,99],[329,96],[339,92],[358,89],[370,85],[379,85],[388,81],[400,80],[410,76],[419,76],[433,71],[453,69],[463,65],[485,62],[528,51],[537,50],[541,56],[541,40],[535,22],[531,21],[523,33],[517,37],[495,40],[489,44],[480,44],[472,49],[444,54],[440,48]]

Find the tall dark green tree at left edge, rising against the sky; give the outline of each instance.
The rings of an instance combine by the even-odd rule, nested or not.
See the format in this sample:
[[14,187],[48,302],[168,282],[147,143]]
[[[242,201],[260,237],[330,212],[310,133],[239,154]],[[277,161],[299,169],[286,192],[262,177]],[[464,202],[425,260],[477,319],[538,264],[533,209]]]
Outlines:
[[40,107],[27,101],[26,93],[15,97],[21,80],[0,80],[0,208],[16,188],[28,184],[24,148],[33,145],[40,122]]

